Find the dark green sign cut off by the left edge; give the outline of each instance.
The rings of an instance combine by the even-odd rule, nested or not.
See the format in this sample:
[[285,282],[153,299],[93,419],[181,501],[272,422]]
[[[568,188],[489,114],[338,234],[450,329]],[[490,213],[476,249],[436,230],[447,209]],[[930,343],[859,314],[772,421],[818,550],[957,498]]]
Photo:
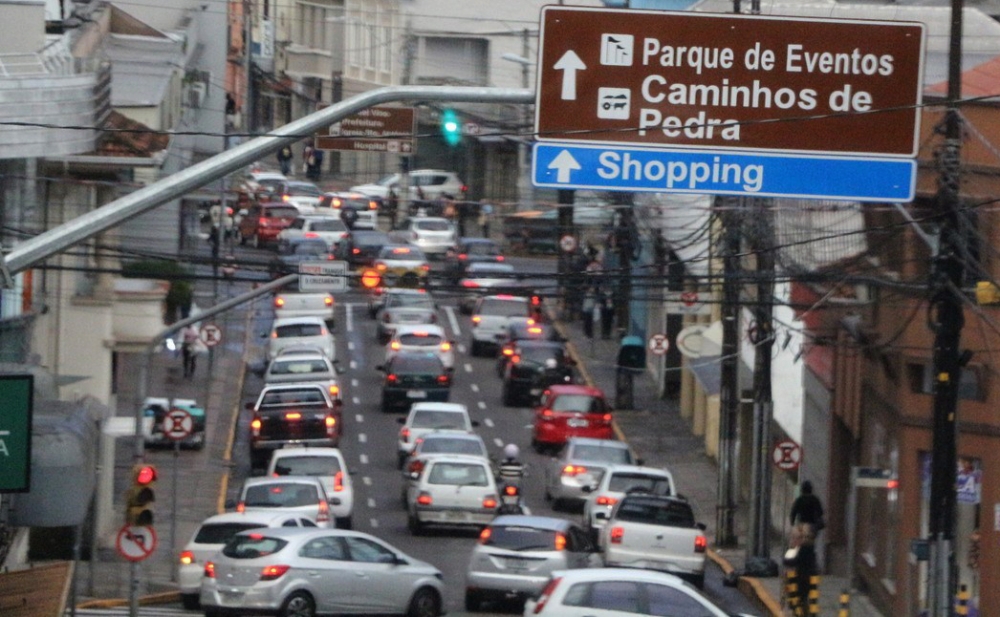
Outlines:
[[0,375],[0,493],[27,493],[35,378]]

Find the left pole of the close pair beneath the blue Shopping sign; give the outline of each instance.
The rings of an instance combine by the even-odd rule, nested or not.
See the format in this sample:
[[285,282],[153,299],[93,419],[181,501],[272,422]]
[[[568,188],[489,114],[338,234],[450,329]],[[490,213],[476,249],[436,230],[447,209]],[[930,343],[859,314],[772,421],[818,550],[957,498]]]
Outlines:
[[722,210],[722,357],[719,366],[719,505],[715,544],[736,546],[736,426],[739,417],[740,214],[743,198],[716,198]]

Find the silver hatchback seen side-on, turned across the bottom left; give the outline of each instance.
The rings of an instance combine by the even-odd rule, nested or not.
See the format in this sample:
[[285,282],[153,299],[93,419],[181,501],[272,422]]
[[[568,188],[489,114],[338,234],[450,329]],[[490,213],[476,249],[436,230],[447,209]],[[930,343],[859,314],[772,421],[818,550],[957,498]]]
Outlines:
[[443,595],[440,570],[374,536],[268,529],[237,534],[205,565],[201,605],[210,616],[438,617]]

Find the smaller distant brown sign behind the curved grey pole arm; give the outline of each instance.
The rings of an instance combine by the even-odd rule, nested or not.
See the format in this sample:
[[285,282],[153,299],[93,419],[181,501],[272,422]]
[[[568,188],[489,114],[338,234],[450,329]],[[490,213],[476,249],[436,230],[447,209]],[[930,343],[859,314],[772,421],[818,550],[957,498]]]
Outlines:
[[410,154],[415,149],[414,119],[412,107],[370,107],[317,134],[316,147]]

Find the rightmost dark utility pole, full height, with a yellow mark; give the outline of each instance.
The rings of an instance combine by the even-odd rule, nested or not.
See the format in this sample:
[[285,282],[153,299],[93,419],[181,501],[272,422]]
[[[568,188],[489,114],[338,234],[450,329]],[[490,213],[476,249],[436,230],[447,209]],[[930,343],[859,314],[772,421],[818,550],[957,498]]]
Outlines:
[[[944,143],[935,153],[941,175],[937,202],[942,213],[940,243],[931,263],[931,311],[934,332],[934,418],[931,455],[930,564],[928,614],[951,615],[957,590],[955,566],[955,469],[958,386],[967,355],[959,351],[965,316],[960,297],[964,266],[959,235],[959,171],[962,159],[962,0],[951,2],[951,45],[948,52],[948,106]],[[853,556],[851,556],[853,558]]]

